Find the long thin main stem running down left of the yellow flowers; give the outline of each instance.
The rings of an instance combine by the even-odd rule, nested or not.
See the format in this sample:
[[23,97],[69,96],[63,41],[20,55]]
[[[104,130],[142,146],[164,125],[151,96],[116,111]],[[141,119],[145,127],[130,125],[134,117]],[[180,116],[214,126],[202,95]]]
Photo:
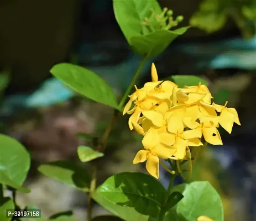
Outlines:
[[[139,67],[137,71],[135,72],[132,81],[130,82],[129,87],[127,88],[126,92],[123,94],[123,97],[121,98],[121,101],[119,102],[119,108],[123,108],[124,103],[126,102],[128,95],[130,94],[130,90],[132,90],[133,86],[135,85],[136,81],[138,80],[138,77],[140,75],[140,72],[142,71],[145,62],[147,62],[148,56],[143,57],[142,61],[139,64]],[[105,132],[102,135],[102,138],[100,141],[98,141],[98,144],[95,146],[95,149],[99,152],[103,152],[106,148],[107,139],[109,134],[111,133],[111,130],[113,128],[114,122],[116,121],[118,117],[118,112],[114,111],[113,115],[111,117],[111,120],[109,121],[109,124],[105,130]],[[88,202],[87,202],[87,221],[90,221],[92,218],[92,194],[95,192],[96,189],[96,183],[97,183],[97,161],[92,162],[92,176],[91,176],[91,182],[90,182],[90,191],[88,193]]]

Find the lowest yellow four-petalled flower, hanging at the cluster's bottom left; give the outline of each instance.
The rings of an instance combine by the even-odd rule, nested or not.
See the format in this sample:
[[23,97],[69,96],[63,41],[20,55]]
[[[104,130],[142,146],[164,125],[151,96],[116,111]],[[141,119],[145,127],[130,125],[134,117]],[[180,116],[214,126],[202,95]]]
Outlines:
[[176,149],[160,143],[158,132],[151,128],[144,136],[142,144],[145,150],[140,150],[134,157],[133,164],[145,162],[147,160],[146,169],[151,176],[159,177],[159,157],[168,159],[173,156]]

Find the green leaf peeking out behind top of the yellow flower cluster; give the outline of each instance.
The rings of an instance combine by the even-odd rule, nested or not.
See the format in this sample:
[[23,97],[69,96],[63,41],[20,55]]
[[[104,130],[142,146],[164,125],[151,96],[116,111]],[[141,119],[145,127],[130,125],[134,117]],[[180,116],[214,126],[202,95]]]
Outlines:
[[206,80],[194,75],[173,75],[170,77],[170,80],[174,81],[180,88],[183,88],[184,86],[198,86],[199,82],[201,82],[202,85],[208,86],[208,82]]

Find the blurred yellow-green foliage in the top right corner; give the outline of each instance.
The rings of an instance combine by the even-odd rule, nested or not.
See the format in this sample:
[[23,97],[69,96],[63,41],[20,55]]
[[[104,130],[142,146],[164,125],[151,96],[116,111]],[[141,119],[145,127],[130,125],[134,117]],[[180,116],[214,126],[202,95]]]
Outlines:
[[255,34],[255,0],[203,0],[197,12],[190,19],[191,25],[208,33],[224,27],[231,17],[242,31],[244,38]]

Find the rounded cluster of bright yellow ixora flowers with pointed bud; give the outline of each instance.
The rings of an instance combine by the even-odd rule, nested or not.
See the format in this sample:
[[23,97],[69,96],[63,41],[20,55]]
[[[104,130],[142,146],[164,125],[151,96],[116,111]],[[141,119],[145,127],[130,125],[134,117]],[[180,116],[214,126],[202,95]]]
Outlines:
[[[218,127],[231,133],[233,123],[241,125],[236,109],[211,103],[207,86],[178,88],[171,81],[159,81],[155,65],[151,66],[152,81],[129,96],[123,114],[132,114],[129,128],[144,136],[144,150],[138,151],[133,164],[147,160],[150,175],[159,177],[159,158],[184,160],[191,147],[206,142],[222,145]],[[132,107],[133,106],[133,107]],[[161,161],[160,161],[161,163]]]

